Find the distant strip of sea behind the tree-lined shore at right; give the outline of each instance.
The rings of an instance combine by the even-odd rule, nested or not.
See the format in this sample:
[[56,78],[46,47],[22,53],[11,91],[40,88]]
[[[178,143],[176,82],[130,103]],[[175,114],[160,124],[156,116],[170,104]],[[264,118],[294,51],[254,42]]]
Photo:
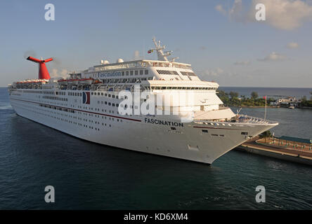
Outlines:
[[243,95],[245,97],[250,97],[252,92],[257,92],[259,97],[296,97],[297,99],[301,99],[306,96],[308,99],[312,97],[310,92],[311,88],[290,88],[290,87],[219,87],[219,90],[223,90],[226,92],[238,92],[239,96]]

